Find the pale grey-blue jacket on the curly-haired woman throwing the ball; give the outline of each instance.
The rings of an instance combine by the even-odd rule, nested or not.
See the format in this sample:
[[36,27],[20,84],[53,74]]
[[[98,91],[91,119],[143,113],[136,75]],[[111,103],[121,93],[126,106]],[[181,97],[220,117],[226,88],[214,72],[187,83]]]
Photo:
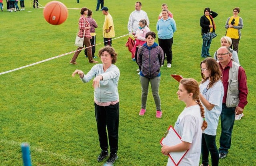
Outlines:
[[82,82],[89,82],[92,78],[101,75],[103,80],[100,80],[100,87],[94,89],[94,98],[98,102],[112,102],[119,99],[118,80],[120,71],[116,65],[112,64],[106,72],[103,70],[103,64],[96,64],[92,69],[84,74],[81,78]]

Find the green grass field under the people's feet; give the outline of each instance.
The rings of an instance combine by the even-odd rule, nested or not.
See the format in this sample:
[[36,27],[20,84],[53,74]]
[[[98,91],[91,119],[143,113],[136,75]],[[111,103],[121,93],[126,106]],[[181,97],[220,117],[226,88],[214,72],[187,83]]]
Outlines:
[[[39,0],[44,6],[50,0]],[[74,40],[78,28],[79,10],[68,10],[68,19],[59,26],[44,20],[43,9],[33,9],[32,1],[25,0],[25,11],[0,12],[0,72],[19,68],[34,62],[76,50]],[[86,6],[93,11],[98,23],[96,43],[103,42],[102,25],[104,15],[96,12],[96,0],[62,0],[68,8]],[[220,166],[256,165],[255,153],[255,0],[142,0],[150,20],[150,29],[156,32],[156,22],[161,4],[166,2],[174,14],[177,32],[174,34],[172,68],[161,68],[160,97],[163,116],[155,118],[155,105],[151,92],[148,95],[145,116],[140,110],[140,81],[124,44],[127,37],[116,39],[112,46],[118,52],[116,65],[120,69],[120,128],[119,159],[116,166],[165,166],[167,157],[160,152],[160,139],[169,125],[174,125],[184,103],[177,99],[178,82],[170,74],[185,78],[200,75],[202,39],[199,20],[205,7],[218,13],[214,19],[218,36],[210,48],[213,54],[220,47],[224,36],[226,19],[232,16],[232,9],[241,8],[239,16],[244,20],[242,38],[239,44],[240,64],[246,70],[249,95],[244,117],[234,124],[232,146],[227,158],[220,160]],[[114,18],[116,37],[128,33],[127,22],[134,10],[135,1],[106,0],[109,12]],[[157,40],[156,40],[157,41]],[[96,46],[98,51],[103,44]],[[97,162],[100,152],[92,82],[83,84],[78,76],[72,78],[75,69],[88,72],[93,64],[82,52],[78,65],[69,64],[73,54],[50,60],[22,70],[0,75],[0,166],[21,166],[22,142],[30,144],[34,166],[101,166]],[[99,58],[96,60],[100,61]],[[219,124],[220,125],[220,124]],[[217,145],[220,127],[217,131]]]

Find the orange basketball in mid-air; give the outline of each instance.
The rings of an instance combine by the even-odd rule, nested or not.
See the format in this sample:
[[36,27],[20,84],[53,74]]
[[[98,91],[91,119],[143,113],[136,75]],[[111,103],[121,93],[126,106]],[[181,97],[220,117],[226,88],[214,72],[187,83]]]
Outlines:
[[48,2],[44,6],[44,19],[52,25],[60,25],[68,17],[67,7],[59,1]]

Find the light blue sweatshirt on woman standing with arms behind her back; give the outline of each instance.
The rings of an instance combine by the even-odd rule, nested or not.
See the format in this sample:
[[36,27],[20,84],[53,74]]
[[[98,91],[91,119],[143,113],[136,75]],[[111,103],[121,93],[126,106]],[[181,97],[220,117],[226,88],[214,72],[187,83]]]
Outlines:
[[173,18],[168,16],[167,20],[161,18],[156,23],[156,30],[158,38],[160,39],[170,39],[173,37],[173,33],[177,30],[176,23]]

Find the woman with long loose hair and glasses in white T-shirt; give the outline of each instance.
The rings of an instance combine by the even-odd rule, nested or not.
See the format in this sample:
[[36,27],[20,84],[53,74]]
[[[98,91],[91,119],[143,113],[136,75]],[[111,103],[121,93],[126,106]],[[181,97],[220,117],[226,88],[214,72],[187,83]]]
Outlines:
[[222,73],[214,58],[204,59],[200,67],[202,81],[199,85],[199,98],[204,106],[205,119],[208,123],[202,134],[202,164],[200,166],[208,166],[209,152],[212,159],[211,166],[218,166],[219,151],[216,145],[216,134],[224,96]]

